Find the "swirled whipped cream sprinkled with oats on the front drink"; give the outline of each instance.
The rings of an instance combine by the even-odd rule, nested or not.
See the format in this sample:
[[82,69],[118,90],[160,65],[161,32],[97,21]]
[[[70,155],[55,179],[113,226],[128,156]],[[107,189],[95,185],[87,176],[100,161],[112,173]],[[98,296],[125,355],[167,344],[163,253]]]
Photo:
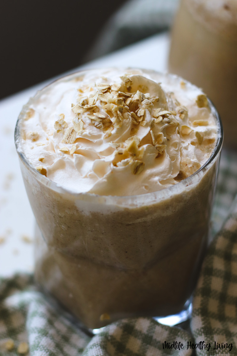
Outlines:
[[18,151],[75,193],[137,195],[196,172],[214,150],[206,96],[174,75],[89,70],[60,79],[28,103]]

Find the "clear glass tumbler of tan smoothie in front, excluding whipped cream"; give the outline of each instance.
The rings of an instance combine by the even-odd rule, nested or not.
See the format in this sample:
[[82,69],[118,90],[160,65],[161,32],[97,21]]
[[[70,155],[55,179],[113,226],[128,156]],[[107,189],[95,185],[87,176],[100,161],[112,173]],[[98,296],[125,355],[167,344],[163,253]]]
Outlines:
[[[53,84],[52,84],[53,85]],[[47,88],[37,93],[47,94]],[[35,279],[88,329],[187,308],[208,241],[222,126],[211,157],[192,176],[136,196],[74,194],[34,169],[15,142],[37,221]],[[186,304],[185,304],[186,303]]]

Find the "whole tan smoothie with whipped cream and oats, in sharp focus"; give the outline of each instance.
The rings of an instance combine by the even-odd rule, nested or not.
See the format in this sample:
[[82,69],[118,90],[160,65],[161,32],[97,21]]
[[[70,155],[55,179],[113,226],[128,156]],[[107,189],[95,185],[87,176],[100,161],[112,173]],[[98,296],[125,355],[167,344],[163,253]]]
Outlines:
[[222,144],[201,90],[151,70],[75,73],[29,100],[15,139],[45,292],[90,329],[179,313],[205,252]]

